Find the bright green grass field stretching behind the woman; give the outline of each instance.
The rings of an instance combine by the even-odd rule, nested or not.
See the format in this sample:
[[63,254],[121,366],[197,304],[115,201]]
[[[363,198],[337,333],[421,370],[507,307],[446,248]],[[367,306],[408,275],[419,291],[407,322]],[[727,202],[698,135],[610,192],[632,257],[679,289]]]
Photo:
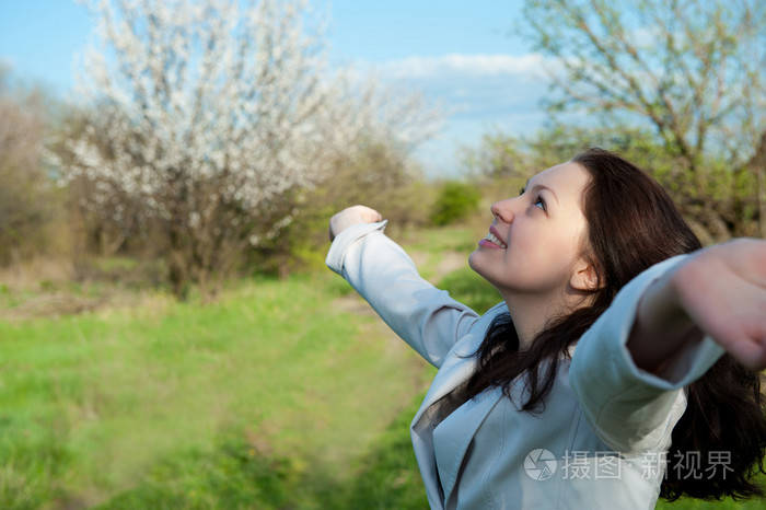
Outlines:
[[[465,236],[406,241],[484,311],[494,290],[441,255]],[[408,424],[433,370],[349,290],[324,270],[0,321],[0,508],[426,508]]]

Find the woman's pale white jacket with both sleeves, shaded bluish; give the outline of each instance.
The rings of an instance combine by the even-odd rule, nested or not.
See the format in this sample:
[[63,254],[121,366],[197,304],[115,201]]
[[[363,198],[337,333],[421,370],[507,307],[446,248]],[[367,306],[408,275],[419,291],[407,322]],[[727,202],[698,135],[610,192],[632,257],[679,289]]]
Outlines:
[[[638,369],[625,344],[643,290],[677,264],[639,275],[559,363],[539,414],[519,412],[499,389],[466,402],[473,353],[504,303],[479,316],[420,278],[383,234],[385,222],[337,236],[327,266],[439,369],[411,424],[418,466],[433,509],[653,509],[671,431],[686,408],[683,386],[722,355],[710,338],[687,349],[668,380]],[[694,459],[668,459],[694,471]],[[726,468],[724,465],[720,466]]]

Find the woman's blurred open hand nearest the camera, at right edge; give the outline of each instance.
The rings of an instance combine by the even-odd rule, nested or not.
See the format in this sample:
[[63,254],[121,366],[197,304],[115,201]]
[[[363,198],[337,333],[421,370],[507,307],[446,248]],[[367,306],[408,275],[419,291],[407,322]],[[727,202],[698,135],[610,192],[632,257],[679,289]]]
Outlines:
[[743,364],[766,368],[766,241],[700,251],[671,277],[678,304]]

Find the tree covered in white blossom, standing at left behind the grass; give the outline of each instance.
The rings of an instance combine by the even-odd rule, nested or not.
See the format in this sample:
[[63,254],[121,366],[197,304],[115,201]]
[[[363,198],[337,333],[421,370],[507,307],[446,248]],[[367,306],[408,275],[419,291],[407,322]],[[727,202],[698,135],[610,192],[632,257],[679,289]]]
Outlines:
[[95,107],[65,173],[97,183],[91,201],[102,211],[119,216],[126,197],[163,225],[178,297],[189,282],[214,290],[246,243],[277,235],[295,190],[358,137],[409,143],[436,118],[374,86],[350,93],[353,80],[327,68],[305,2],[245,3],[89,4],[97,46],[83,90]]

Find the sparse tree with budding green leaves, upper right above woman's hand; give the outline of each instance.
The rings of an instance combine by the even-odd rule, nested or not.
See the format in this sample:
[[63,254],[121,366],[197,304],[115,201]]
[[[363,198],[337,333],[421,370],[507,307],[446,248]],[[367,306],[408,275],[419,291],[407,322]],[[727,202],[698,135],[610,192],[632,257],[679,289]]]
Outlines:
[[[746,233],[764,185],[747,164],[766,132],[764,2],[531,0],[524,13],[555,62],[554,111],[650,126],[680,170],[682,209],[717,237]],[[711,155],[733,175],[711,173]]]

